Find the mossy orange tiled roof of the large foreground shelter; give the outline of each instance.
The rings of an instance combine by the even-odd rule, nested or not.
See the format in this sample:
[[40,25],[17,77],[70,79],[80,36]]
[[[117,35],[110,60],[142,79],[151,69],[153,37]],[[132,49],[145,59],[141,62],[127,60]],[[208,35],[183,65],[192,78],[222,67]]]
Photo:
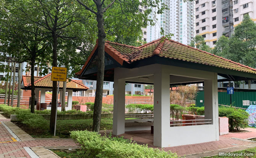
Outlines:
[[[97,49],[97,43],[92,53],[88,57],[86,63],[84,64],[83,68],[76,73],[77,75],[80,75],[81,72],[83,72],[83,70],[85,69],[86,65],[89,63],[92,55]],[[193,62],[203,65],[210,65],[224,69],[231,69],[256,74],[256,69],[253,69],[246,65],[233,62],[231,60],[216,56],[206,51],[201,51],[199,49],[184,45],[177,41],[167,40],[163,37],[139,47],[105,41],[105,52],[113,57],[113,59],[115,59],[121,65],[123,65],[123,62],[131,63],[157,55],[169,59],[176,59],[180,61]]]

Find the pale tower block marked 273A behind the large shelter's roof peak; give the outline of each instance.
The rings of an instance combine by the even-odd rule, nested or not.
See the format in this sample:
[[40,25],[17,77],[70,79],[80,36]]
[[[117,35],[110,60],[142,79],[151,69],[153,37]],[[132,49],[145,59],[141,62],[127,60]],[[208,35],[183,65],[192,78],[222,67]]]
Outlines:
[[[194,2],[183,2],[183,0],[162,0],[169,10],[165,10],[163,14],[157,14],[158,19],[155,26],[147,26],[147,42],[156,40],[163,35],[174,34],[172,40],[190,44],[191,39],[195,35],[194,26]],[[153,8],[153,12],[157,11]],[[154,16],[150,15],[150,18]]]

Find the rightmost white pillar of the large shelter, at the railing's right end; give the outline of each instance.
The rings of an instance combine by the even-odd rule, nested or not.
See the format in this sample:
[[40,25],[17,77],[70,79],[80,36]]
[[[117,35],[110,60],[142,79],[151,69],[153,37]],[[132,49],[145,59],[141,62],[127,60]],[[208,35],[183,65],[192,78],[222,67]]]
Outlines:
[[219,140],[219,107],[218,107],[218,81],[217,73],[214,79],[204,80],[204,118],[212,119],[215,127],[215,137]]

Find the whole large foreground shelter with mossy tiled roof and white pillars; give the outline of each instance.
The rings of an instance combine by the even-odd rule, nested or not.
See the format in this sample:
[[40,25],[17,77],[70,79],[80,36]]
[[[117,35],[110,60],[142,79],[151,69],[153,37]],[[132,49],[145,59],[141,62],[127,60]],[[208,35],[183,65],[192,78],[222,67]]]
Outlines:
[[[97,46],[76,73],[80,79],[96,80]],[[139,47],[106,41],[104,80],[114,81],[115,88],[113,134],[131,130],[125,126],[125,83],[141,83],[154,84],[154,145],[171,147],[219,140],[218,75],[225,81],[252,80],[256,79],[256,69],[165,37]],[[204,83],[204,118],[208,124],[171,127],[170,85],[188,83]]]

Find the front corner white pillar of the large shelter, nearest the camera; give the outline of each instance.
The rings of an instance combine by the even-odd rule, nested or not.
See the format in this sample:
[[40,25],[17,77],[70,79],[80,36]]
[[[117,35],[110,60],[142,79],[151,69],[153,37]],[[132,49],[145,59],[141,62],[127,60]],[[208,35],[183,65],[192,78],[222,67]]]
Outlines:
[[154,73],[154,145],[168,147],[170,130],[170,74],[164,69]]

